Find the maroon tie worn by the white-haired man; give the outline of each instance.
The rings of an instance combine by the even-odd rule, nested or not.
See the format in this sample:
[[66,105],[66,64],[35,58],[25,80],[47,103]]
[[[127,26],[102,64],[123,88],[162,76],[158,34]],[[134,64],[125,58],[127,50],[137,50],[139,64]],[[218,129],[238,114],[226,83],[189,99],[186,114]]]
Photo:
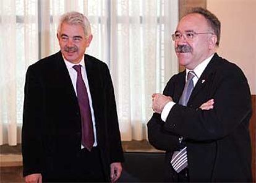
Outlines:
[[81,65],[75,65],[73,68],[77,71],[77,99],[82,121],[82,145],[91,151],[94,143],[92,113],[89,104],[87,88],[82,79]]

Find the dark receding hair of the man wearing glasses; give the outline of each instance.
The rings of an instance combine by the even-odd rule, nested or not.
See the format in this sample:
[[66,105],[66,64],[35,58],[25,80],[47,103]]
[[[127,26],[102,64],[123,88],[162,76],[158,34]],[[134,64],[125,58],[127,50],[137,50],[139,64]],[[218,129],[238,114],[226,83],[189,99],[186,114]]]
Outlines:
[[190,9],[190,11],[187,12],[187,14],[200,14],[200,15],[203,15],[203,17],[205,17],[205,19],[207,20],[208,24],[213,29],[213,32],[217,36],[217,43],[216,43],[216,45],[217,46],[220,45],[220,33],[221,33],[220,28],[221,28],[221,23],[220,23],[220,20],[216,17],[216,15],[214,15],[213,13],[211,13],[210,11],[208,11],[207,9],[204,9],[202,7],[194,7],[192,9]]

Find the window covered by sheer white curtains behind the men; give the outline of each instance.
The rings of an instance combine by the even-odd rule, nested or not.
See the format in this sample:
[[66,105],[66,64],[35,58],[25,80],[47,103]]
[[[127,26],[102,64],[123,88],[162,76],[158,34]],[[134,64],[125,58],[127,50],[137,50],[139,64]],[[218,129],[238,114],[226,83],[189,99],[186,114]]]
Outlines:
[[[122,140],[147,138],[151,94],[162,92],[178,64],[170,40],[177,0],[2,0],[0,144],[20,142],[23,85],[30,64],[59,50],[59,15],[79,11],[92,24],[87,50],[106,62],[116,93]],[[18,129],[18,130],[17,130]],[[9,134],[16,133],[12,140]],[[12,136],[12,135],[11,135]]]

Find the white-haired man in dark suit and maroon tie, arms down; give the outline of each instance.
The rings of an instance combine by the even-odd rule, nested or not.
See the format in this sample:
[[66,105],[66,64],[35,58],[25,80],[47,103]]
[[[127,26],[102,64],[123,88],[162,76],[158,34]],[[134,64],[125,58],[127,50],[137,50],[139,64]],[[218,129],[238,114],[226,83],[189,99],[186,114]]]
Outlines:
[[25,182],[115,182],[124,161],[108,66],[85,54],[90,22],[62,15],[61,50],[28,67],[22,127]]

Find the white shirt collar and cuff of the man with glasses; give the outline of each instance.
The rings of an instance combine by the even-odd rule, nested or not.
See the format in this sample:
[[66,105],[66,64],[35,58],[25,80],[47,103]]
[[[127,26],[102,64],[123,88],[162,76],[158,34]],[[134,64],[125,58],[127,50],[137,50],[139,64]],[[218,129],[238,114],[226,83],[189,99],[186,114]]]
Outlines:
[[[207,67],[207,65],[209,64],[209,62],[211,61],[211,58],[213,57],[213,54],[208,57],[207,59],[205,59],[203,62],[201,62],[200,64],[198,64],[197,67],[195,67],[195,69],[193,70],[195,72],[195,77],[193,78],[193,83],[194,83],[194,86],[197,84],[197,81],[198,79],[200,78],[200,76],[202,75],[203,73],[203,70],[205,70],[205,68]],[[192,70],[189,70],[189,69],[186,69],[186,77],[185,77],[185,80],[187,80],[187,74],[189,73],[189,71],[192,71]],[[174,101],[169,101],[163,108],[163,111],[161,113],[161,119],[165,122],[167,117],[168,117],[168,114],[170,113],[171,109],[173,108],[174,106]]]

